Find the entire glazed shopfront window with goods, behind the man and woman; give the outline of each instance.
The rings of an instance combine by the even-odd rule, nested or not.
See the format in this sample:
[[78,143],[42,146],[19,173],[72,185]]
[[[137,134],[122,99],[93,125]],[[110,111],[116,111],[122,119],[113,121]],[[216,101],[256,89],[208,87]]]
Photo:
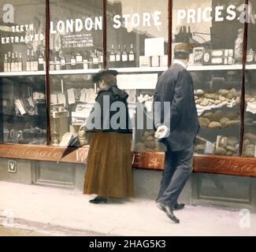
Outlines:
[[[5,143],[46,143],[45,4],[44,0],[35,0],[33,4],[26,0],[0,4],[1,128]],[[173,0],[172,46],[190,43],[194,47],[188,70],[194,81],[202,126],[195,145],[198,154],[239,154],[243,18],[248,16],[247,7],[243,155],[254,157],[253,4],[244,6],[243,0]],[[106,57],[106,67],[120,72],[117,84],[128,92],[131,117],[138,118],[135,115],[138,104],[143,110],[143,126],[133,120],[139,128],[135,134],[137,149],[159,150],[153,139],[152,102],[158,76],[168,66],[168,30],[167,0],[109,0],[106,55],[103,55],[103,2],[50,0],[47,84],[50,84],[51,143],[64,146],[65,137],[75,135],[86,121],[97,95],[91,77],[103,68]]]

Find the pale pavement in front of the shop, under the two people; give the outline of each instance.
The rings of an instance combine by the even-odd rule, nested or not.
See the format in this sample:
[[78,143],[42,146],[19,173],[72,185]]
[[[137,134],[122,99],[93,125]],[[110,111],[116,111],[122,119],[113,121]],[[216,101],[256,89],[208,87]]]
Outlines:
[[185,206],[175,211],[175,224],[152,199],[94,205],[91,198],[76,190],[0,182],[0,236],[256,235],[256,213],[249,210]]

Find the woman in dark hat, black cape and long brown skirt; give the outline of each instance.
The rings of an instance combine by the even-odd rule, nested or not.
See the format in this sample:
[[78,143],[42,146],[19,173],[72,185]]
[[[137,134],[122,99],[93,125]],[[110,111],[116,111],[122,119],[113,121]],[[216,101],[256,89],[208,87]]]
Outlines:
[[92,79],[100,91],[86,123],[91,138],[83,193],[98,195],[91,203],[133,196],[128,95],[117,87],[117,74],[102,70]]

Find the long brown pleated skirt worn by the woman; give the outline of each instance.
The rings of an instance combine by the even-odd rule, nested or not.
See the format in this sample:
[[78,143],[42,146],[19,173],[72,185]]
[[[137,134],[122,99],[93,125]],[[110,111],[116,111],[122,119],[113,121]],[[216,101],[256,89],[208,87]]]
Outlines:
[[133,197],[132,134],[91,133],[83,193]]

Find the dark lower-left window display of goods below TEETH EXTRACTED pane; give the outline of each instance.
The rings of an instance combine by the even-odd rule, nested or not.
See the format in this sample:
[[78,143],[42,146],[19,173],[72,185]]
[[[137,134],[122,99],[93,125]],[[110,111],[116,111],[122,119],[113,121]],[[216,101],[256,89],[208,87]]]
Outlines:
[[[32,82],[30,82],[32,81]],[[46,144],[46,96],[44,79],[2,81],[4,143]]]

